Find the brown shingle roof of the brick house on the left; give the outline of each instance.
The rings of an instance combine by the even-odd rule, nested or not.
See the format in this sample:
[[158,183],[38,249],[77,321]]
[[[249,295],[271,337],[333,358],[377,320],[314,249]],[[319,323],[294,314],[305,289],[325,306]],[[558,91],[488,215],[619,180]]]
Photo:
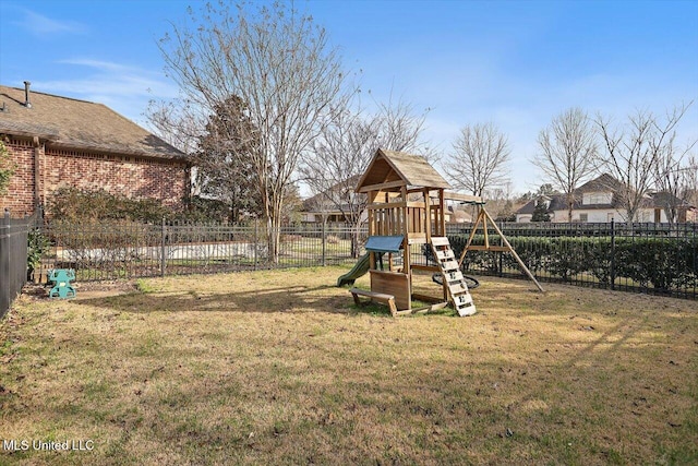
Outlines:
[[[32,108],[23,88],[0,85],[0,133],[39,136],[49,147],[106,152],[152,158],[186,155],[109,107],[32,91]],[[4,107],[3,107],[4,104]]]

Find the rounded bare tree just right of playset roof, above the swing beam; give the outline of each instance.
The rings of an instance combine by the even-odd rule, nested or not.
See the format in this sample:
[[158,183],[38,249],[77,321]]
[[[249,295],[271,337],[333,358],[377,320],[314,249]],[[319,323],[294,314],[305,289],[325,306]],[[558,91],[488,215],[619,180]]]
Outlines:
[[454,154],[445,164],[454,188],[482,196],[507,181],[509,145],[493,123],[466,126],[454,142]]

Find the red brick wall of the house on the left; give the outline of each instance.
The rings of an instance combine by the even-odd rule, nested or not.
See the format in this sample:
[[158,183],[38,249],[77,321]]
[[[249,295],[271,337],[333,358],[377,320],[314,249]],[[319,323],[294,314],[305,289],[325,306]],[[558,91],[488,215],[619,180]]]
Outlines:
[[[31,141],[5,143],[17,171],[8,194],[0,196],[0,207],[12,216],[24,216],[34,210],[34,147]],[[177,208],[189,189],[188,170],[181,162],[152,160],[139,157],[45,148],[39,151],[39,190],[44,204],[59,188],[105,190],[134,199],[152,198]]]

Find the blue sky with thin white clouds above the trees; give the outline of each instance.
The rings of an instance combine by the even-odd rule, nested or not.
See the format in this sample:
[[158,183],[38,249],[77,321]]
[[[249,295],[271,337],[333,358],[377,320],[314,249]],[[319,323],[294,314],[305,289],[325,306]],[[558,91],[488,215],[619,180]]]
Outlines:
[[[448,154],[458,130],[492,121],[512,146],[516,192],[542,182],[538,132],[571,106],[623,121],[697,100],[679,128],[698,139],[698,0],[296,1],[324,26],[377,100],[430,108],[425,136]],[[103,103],[145,124],[177,95],[157,40],[179,0],[0,0],[0,83]],[[695,150],[694,150],[695,151]],[[441,167],[437,167],[441,169]]]

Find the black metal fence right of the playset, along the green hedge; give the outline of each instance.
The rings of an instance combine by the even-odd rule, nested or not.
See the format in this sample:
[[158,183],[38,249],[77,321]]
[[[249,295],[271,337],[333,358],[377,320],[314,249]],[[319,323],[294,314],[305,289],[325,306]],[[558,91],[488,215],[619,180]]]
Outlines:
[[[539,280],[698,298],[697,224],[502,224],[502,232]],[[450,228],[459,254],[469,228]],[[490,229],[490,244],[501,239]],[[483,244],[478,231],[473,244]],[[525,278],[508,253],[469,251],[466,271]]]

